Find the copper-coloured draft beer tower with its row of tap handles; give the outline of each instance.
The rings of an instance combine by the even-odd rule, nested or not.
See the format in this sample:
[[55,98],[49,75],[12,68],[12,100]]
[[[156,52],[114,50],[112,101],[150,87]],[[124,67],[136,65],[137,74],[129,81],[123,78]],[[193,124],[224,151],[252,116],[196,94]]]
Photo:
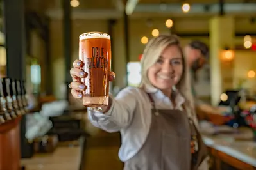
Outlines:
[[21,169],[19,122],[28,106],[26,93],[22,91],[25,91],[23,81],[0,79],[0,170]]

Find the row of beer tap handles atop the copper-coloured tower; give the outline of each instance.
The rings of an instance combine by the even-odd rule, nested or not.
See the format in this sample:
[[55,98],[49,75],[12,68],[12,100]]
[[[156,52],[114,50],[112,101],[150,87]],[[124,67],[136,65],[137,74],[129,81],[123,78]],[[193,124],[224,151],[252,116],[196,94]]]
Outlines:
[[0,125],[28,112],[24,81],[0,79]]

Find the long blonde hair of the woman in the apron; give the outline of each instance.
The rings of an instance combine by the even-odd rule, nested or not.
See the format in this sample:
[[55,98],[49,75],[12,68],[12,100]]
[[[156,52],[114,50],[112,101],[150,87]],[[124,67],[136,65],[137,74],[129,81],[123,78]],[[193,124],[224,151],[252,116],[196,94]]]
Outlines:
[[194,100],[192,97],[191,81],[189,76],[189,66],[187,65],[186,59],[183,55],[182,47],[180,45],[180,41],[178,40],[178,36],[160,35],[156,38],[151,39],[148,42],[141,59],[142,81],[140,87],[143,88],[145,85],[153,86],[148,79],[148,69],[157,62],[157,59],[162,54],[162,51],[171,45],[176,45],[180,49],[183,61],[183,73],[180,81],[178,82],[178,84],[176,84],[176,89],[185,98],[185,111],[187,111],[188,114],[191,114],[191,116],[195,116]]

